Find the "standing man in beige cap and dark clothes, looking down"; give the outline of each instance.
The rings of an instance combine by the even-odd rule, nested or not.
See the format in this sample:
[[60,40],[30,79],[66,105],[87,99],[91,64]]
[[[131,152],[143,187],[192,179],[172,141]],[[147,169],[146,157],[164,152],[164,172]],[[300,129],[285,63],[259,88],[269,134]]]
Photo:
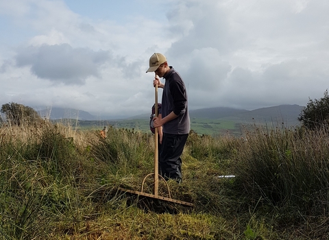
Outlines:
[[[187,108],[187,94],[185,84],[180,74],[168,65],[167,58],[161,53],[154,53],[149,58],[149,69],[158,77],[154,79],[154,86],[163,88],[161,114],[154,118],[154,127],[162,126],[162,143],[159,167],[161,176],[182,182],[182,155],[188,132],[190,132],[190,117]],[[162,84],[160,78],[165,82]]]

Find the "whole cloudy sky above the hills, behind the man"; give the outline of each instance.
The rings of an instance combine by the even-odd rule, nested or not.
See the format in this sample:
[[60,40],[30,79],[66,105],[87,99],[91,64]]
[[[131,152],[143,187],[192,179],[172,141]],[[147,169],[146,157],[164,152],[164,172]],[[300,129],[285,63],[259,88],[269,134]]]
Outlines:
[[189,110],[306,106],[329,85],[328,11],[328,0],[0,0],[0,104],[150,112],[159,52]]

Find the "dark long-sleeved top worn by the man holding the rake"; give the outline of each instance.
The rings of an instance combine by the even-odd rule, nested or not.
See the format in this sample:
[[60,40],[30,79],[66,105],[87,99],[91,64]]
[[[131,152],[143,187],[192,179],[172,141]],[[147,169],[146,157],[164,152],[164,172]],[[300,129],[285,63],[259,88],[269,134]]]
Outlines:
[[163,125],[162,131],[168,134],[188,134],[190,132],[190,117],[188,115],[187,93],[180,74],[170,67],[163,77],[166,80],[162,93],[162,118],[174,112],[177,118]]

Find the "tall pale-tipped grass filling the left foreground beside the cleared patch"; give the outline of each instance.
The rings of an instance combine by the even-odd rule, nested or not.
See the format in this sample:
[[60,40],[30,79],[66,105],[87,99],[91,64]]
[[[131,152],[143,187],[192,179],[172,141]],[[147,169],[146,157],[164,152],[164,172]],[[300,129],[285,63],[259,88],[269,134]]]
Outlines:
[[[101,168],[80,154],[62,125],[3,126],[0,141],[0,232],[4,239],[40,239],[59,219],[77,219],[90,206],[82,186]],[[91,174],[90,174],[91,176]],[[50,225],[50,226],[49,226]],[[43,237],[42,237],[43,236]]]

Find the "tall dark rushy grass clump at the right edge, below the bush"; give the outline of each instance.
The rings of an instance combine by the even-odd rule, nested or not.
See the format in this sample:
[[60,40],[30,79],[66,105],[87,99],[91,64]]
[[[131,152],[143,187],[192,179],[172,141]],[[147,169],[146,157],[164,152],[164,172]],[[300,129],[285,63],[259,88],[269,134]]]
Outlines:
[[[305,128],[256,128],[235,156],[236,174],[252,201],[282,210],[289,224],[323,220],[329,204],[329,132]],[[308,219],[309,220],[309,219]]]

